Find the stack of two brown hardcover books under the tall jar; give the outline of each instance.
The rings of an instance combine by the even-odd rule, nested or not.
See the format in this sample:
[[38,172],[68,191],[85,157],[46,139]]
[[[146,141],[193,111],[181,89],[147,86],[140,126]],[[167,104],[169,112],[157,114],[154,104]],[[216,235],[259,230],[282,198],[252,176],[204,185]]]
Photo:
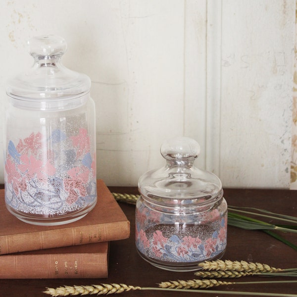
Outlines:
[[58,226],[24,223],[0,190],[0,278],[106,278],[110,241],[126,239],[130,222],[102,180],[98,201],[82,219]]

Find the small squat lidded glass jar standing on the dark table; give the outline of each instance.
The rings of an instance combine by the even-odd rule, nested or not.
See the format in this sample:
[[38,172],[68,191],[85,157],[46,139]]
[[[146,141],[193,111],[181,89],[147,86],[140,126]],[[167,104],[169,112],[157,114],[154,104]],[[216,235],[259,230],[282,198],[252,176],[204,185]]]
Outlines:
[[172,271],[198,270],[219,259],[227,244],[227,203],[221,181],[196,168],[198,143],[186,137],[165,141],[166,166],[139,179],[136,247],[152,265]]

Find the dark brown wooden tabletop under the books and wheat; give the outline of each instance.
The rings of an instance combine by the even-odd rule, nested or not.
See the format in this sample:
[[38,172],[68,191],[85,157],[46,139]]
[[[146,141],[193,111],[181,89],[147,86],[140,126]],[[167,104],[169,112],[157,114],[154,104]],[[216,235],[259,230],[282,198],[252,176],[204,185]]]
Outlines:
[[[136,188],[109,187],[114,193],[138,194]],[[224,197],[232,206],[252,206],[267,210],[297,216],[297,191],[290,190],[250,190],[224,189]],[[107,279],[29,279],[29,280],[0,280],[0,297],[42,297],[46,287],[93,285],[100,283],[124,283],[140,287],[157,287],[163,281],[192,280],[193,272],[171,272],[158,269],[144,261],[135,247],[135,206],[119,202],[131,222],[129,239],[111,242],[109,257],[109,276]],[[296,234],[281,234],[297,245]],[[277,268],[297,268],[297,250],[286,246],[261,231],[243,230],[228,226],[227,250],[222,259],[245,260],[248,262],[265,263]],[[197,277],[196,277],[197,278]],[[240,279],[224,279],[227,281],[263,281],[272,278],[258,276]],[[273,278],[273,280],[293,280],[293,278]],[[266,292],[297,294],[297,284],[273,285],[227,285],[214,289],[219,291]],[[93,295],[94,296],[94,295]],[[160,292],[160,291],[130,291],[116,296],[129,297],[175,297],[196,296],[196,293]],[[226,294],[199,294],[198,296],[227,297]],[[233,296],[243,296],[241,294]]]

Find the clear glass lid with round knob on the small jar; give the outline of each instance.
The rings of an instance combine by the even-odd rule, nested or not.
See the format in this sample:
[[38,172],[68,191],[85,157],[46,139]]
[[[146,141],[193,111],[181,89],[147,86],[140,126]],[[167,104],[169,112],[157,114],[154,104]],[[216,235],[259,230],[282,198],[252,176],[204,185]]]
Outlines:
[[166,140],[160,151],[166,165],[140,177],[138,188],[143,196],[163,202],[177,199],[181,204],[203,204],[222,197],[220,179],[194,166],[200,152],[200,146],[194,139],[177,137]]

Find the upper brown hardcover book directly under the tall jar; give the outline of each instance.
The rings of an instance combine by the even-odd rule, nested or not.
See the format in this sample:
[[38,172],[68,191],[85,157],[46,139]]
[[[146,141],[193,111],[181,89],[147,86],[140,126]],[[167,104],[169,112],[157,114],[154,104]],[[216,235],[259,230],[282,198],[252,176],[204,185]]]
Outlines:
[[96,206],[82,219],[38,226],[12,215],[5,205],[4,190],[0,190],[0,254],[128,238],[130,222],[102,180],[97,181],[97,193]]

